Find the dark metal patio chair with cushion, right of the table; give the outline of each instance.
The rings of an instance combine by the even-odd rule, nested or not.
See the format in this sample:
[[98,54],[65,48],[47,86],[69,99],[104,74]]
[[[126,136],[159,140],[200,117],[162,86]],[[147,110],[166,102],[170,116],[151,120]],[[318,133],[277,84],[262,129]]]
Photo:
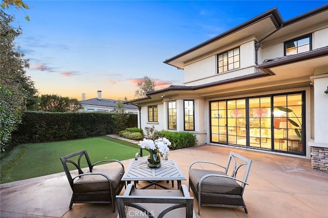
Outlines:
[[[192,168],[194,164],[213,166],[211,169]],[[209,165],[210,164],[210,165]],[[195,161],[189,167],[189,190],[193,191],[200,206],[240,207],[248,213],[242,198],[252,160],[230,152],[226,167],[208,161]],[[213,170],[217,166],[224,170]],[[238,173],[238,177],[237,177]],[[239,174],[241,176],[239,176]],[[231,176],[229,176],[231,175]]]

